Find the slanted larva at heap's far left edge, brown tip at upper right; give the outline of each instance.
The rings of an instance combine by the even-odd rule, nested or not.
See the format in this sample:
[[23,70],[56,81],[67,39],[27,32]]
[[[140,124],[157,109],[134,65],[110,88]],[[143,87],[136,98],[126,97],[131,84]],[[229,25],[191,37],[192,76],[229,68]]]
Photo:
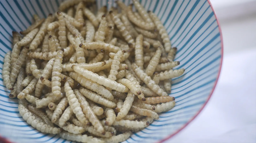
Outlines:
[[[21,66],[24,64],[26,60],[26,54],[28,53],[28,47],[24,47],[21,52],[20,56],[15,62],[15,65],[12,68],[11,74],[10,74],[10,81],[11,85],[14,85],[16,78],[18,77],[18,73],[20,72]],[[9,87],[11,88],[11,87]]]

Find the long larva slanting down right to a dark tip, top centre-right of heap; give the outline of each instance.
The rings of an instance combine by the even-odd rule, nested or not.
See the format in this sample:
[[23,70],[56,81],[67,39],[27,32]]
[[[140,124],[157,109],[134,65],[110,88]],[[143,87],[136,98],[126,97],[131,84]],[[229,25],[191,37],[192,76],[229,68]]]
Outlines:
[[120,31],[120,34],[123,36],[125,41],[127,41],[127,43],[131,43],[135,45],[135,42],[132,36],[129,34],[129,32],[123,25],[123,22],[120,20],[120,18],[117,17],[115,12],[110,11],[109,14],[112,16],[112,20],[114,21],[115,25],[117,26],[117,29]]

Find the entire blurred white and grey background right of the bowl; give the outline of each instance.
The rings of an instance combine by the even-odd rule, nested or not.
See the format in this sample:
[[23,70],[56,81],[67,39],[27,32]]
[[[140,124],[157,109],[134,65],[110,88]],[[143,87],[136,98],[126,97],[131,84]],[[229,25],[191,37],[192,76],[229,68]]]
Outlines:
[[256,1],[210,0],[224,41],[222,70],[202,112],[169,142],[256,142]]

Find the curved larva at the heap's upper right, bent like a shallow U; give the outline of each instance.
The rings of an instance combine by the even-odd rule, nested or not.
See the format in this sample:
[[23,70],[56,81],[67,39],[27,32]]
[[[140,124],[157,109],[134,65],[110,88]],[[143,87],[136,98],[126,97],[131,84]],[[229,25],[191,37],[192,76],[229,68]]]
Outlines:
[[127,17],[129,18],[129,20],[135,24],[136,26],[145,29],[145,30],[154,30],[155,25],[153,22],[151,23],[147,23],[145,21],[143,21],[143,19],[139,19],[135,16],[135,14],[133,13],[133,9],[132,9],[132,4],[128,6],[127,8]]

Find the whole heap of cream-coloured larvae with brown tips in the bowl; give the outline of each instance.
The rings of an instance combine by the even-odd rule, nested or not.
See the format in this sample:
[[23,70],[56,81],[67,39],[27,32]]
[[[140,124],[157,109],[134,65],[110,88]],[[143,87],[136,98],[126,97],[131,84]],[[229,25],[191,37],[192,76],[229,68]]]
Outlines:
[[[13,32],[3,81],[22,118],[38,131],[79,142],[122,142],[175,105],[170,79],[177,48],[136,0],[94,14],[93,1],[64,1],[59,12]],[[133,12],[133,5],[138,12]],[[75,14],[74,14],[75,13]]]

